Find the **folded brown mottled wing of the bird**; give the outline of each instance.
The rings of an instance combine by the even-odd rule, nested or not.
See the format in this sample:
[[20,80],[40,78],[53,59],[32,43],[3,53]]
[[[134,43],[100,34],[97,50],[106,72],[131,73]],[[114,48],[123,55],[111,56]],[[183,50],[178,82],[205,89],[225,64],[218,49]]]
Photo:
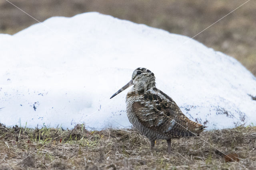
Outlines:
[[158,89],[140,95],[132,109],[144,126],[163,135],[192,137],[203,131],[204,126],[186,117],[177,104]]

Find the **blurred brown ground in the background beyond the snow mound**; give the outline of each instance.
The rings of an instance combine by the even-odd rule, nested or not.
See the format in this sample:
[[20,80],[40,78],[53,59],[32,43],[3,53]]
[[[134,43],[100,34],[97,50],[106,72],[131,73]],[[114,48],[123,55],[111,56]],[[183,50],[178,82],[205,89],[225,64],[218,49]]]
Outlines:
[[[8,0],[38,21],[100,12],[194,37],[247,0]],[[37,21],[0,0],[0,33],[15,34]],[[256,0],[194,37],[204,45],[240,61],[256,76]]]

